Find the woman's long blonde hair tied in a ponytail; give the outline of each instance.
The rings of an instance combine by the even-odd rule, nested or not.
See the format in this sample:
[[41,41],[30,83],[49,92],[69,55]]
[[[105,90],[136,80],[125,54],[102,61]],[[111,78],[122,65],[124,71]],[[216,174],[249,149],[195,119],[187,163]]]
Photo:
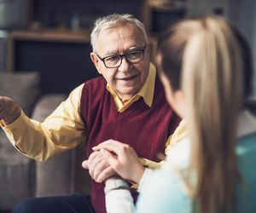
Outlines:
[[[196,181],[184,181],[199,212],[231,212],[239,176],[236,124],[243,94],[236,36],[224,19],[211,16],[183,20],[169,29],[166,38],[159,46],[163,55],[160,66],[168,76],[172,72],[170,61],[180,63],[178,86],[183,89],[188,109],[189,169],[195,172]],[[165,54],[167,48],[179,54],[170,60]],[[169,80],[175,81],[171,78],[172,74]]]

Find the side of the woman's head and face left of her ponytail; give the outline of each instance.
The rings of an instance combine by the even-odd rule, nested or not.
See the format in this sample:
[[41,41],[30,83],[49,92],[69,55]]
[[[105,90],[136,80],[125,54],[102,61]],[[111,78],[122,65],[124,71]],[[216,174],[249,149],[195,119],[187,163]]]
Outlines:
[[181,88],[183,52],[189,37],[200,27],[198,20],[180,21],[160,36],[157,47],[157,66],[166,91],[166,99],[182,118],[185,111]]

